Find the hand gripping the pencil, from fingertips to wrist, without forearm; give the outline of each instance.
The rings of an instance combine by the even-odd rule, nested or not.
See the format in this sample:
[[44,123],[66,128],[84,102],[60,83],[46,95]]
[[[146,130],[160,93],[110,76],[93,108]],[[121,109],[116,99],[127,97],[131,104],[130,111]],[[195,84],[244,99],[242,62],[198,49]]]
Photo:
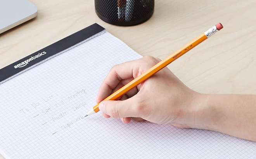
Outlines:
[[[107,74],[96,102],[105,118],[121,118],[123,123],[145,119],[157,124],[189,128],[195,122],[199,93],[185,86],[165,67],[119,99],[102,101],[160,61],[151,56],[116,65]],[[102,102],[101,102],[102,101]]]

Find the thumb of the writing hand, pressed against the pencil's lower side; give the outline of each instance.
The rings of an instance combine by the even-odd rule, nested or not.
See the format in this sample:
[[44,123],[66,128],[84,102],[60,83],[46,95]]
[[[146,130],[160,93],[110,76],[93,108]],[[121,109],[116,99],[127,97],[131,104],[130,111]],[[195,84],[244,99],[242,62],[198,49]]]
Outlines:
[[99,109],[111,118],[138,117],[136,98],[126,100],[104,100],[100,102]]

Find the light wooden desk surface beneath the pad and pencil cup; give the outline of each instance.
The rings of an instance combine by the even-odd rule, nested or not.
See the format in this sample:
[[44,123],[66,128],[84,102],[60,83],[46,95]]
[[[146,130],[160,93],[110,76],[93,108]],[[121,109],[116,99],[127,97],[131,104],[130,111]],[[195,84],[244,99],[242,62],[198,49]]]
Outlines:
[[38,16],[0,34],[0,68],[95,22],[139,54],[160,59],[221,22],[224,29],[169,68],[201,93],[256,93],[255,0],[156,0],[152,18],[130,27],[101,21],[93,0],[31,2]]

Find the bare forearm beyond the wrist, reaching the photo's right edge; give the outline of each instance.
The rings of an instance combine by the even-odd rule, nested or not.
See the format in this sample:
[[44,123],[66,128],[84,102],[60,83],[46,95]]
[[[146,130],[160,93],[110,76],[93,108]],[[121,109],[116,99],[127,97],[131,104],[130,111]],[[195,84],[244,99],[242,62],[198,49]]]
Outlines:
[[195,126],[256,141],[256,95],[199,95]]

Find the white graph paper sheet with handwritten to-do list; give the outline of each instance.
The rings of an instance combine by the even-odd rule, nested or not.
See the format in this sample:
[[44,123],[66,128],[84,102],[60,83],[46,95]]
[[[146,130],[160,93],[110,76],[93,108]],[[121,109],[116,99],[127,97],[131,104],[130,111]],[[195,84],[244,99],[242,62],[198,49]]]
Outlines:
[[249,159],[256,143],[207,130],[84,118],[115,64],[141,56],[106,30],[0,85],[6,159]]

